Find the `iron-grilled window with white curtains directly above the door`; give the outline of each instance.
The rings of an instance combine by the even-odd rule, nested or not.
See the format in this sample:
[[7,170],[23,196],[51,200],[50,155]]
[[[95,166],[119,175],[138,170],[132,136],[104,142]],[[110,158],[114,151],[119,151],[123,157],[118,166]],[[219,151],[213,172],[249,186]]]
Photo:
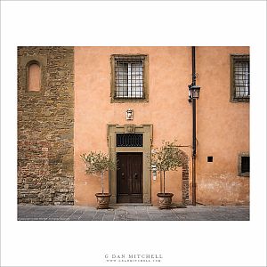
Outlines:
[[146,55],[113,55],[111,65],[113,101],[147,100]]

